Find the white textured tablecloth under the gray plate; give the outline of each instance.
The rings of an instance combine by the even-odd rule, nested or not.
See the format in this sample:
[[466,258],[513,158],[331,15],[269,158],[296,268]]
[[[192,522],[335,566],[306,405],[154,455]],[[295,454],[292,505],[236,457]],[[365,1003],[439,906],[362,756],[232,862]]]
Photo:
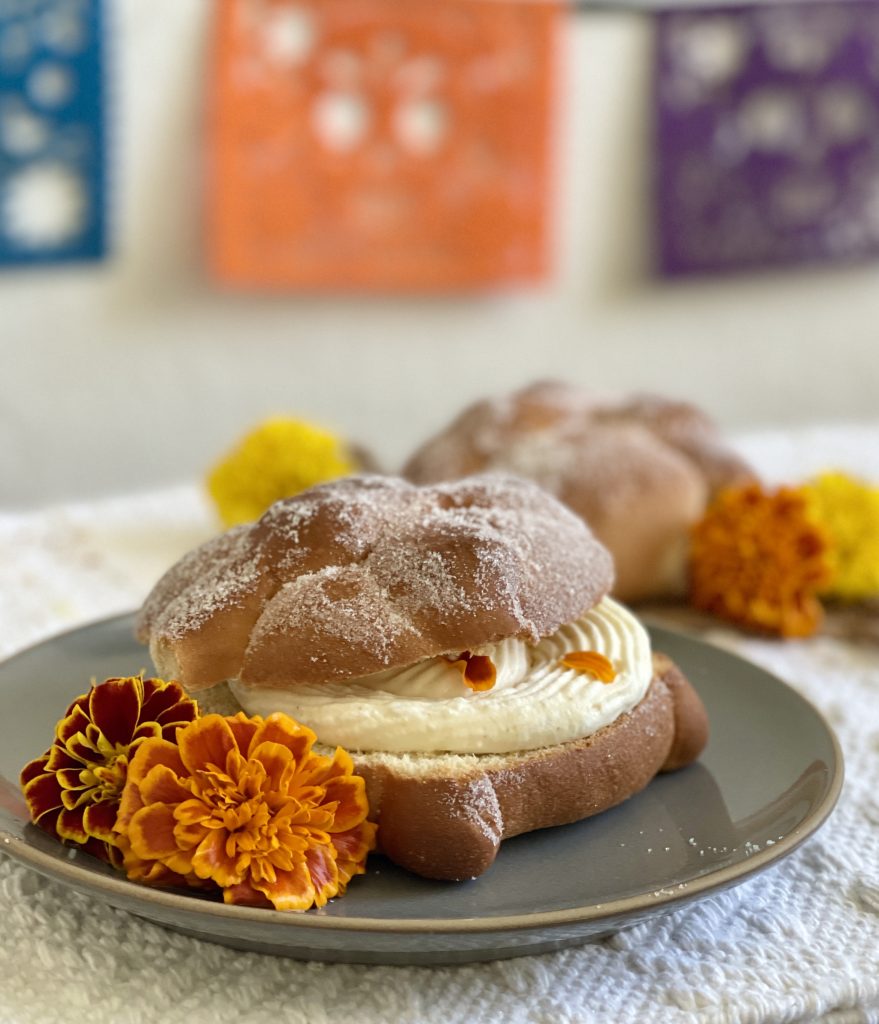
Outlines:
[[[879,480],[879,425],[742,438],[768,478]],[[213,529],[194,487],[0,515],[0,654],[136,606]],[[835,726],[830,821],[768,871],[593,945],[455,968],[300,964],[200,943],[0,856],[0,1024],[879,1022],[879,648],[712,638]]]

